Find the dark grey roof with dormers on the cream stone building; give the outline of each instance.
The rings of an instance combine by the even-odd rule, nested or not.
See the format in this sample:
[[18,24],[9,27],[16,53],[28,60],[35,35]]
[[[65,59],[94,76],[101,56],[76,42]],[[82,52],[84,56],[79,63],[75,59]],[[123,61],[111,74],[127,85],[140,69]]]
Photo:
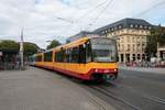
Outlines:
[[99,28],[99,29],[95,30],[94,32],[100,34],[100,32],[102,32],[105,30],[114,31],[114,30],[125,29],[125,28],[148,29],[151,26],[153,26],[153,25],[151,23],[146,22],[145,20],[127,18],[127,19],[117,21],[114,23],[108,24],[106,26]]

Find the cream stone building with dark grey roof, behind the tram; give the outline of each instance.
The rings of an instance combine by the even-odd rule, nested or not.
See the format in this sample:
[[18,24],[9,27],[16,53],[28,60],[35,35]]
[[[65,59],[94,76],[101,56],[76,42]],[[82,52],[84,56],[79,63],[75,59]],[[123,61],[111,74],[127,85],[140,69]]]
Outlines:
[[144,61],[146,36],[152,24],[141,19],[123,19],[94,31],[101,36],[117,40],[119,62]]

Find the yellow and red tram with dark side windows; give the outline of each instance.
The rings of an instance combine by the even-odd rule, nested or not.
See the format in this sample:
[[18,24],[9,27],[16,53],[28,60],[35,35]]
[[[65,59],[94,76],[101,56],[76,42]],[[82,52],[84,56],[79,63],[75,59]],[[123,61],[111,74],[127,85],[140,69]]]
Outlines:
[[85,80],[116,79],[118,76],[117,44],[108,37],[82,37],[33,56],[37,67]]

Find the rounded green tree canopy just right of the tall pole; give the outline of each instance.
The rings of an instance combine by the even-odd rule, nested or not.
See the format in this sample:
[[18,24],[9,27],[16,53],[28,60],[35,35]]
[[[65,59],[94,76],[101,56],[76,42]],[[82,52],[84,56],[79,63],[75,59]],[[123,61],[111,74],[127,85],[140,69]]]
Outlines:
[[30,55],[33,55],[37,52],[38,50],[38,46],[34,43],[23,43],[23,48],[24,48],[24,55],[25,56],[30,56]]

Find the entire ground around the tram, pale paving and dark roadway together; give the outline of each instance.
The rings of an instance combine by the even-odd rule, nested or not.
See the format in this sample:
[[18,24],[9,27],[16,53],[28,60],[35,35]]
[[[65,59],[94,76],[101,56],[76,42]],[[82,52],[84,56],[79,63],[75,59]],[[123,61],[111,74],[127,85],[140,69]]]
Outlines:
[[164,110],[164,80],[165,74],[127,69],[103,84],[35,67],[0,72],[0,110]]

